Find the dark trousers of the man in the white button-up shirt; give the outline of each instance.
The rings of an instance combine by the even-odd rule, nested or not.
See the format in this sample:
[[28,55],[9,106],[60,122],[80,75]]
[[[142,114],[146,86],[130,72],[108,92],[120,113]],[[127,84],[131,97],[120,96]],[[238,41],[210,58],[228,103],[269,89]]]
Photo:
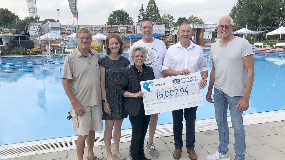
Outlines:
[[[197,107],[185,108],[184,118],[186,121],[186,148],[188,150],[194,149],[195,144],[195,120]],[[173,118],[173,134],[174,146],[181,149],[183,146],[182,129],[183,129],[183,109],[172,111]]]

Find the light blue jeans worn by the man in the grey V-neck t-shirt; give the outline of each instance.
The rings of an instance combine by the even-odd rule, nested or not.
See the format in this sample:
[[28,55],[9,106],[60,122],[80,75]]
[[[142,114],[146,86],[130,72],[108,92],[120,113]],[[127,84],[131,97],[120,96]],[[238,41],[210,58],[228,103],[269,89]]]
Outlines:
[[244,160],[246,149],[242,112],[239,112],[239,107],[235,107],[240,99],[242,99],[242,96],[230,97],[214,87],[214,106],[220,142],[219,153],[225,155],[228,152],[229,133],[227,114],[228,106],[230,106],[230,117],[235,131],[235,160]]

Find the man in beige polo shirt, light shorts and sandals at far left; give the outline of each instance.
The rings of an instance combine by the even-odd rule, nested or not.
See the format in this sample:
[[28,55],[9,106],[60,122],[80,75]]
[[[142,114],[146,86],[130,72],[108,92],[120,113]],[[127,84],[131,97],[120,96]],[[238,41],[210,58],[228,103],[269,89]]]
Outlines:
[[103,130],[102,99],[98,52],[90,50],[91,32],[81,27],[76,35],[78,47],[65,58],[62,85],[68,96],[72,116],[72,130],[78,132],[76,152],[83,160],[85,140],[87,139],[87,159],[100,160],[94,155],[95,131]]

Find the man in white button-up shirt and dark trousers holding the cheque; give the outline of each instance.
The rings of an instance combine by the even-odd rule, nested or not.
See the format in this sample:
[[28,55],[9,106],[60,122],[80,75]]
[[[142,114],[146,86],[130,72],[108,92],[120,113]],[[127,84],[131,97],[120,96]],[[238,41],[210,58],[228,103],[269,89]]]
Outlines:
[[[199,82],[199,88],[203,89],[207,85],[208,67],[204,58],[204,53],[199,45],[191,42],[192,29],[188,24],[182,24],[179,27],[177,36],[180,41],[169,47],[164,58],[162,66],[162,74],[164,76],[177,76],[195,73],[200,70],[202,80]],[[179,159],[182,152],[182,120],[183,114],[186,120],[186,148],[189,158],[197,159],[194,143],[195,143],[195,119],[197,107],[185,108],[172,111],[173,132],[175,151],[173,157]]]

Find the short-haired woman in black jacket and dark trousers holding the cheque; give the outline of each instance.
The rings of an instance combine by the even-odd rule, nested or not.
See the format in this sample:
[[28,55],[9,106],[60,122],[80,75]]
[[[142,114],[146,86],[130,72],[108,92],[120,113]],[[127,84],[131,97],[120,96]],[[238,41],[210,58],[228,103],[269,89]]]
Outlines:
[[148,129],[150,115],[144,112],[144,103],[141,91],[141,81],[155,79],[153,69],[144,64],[146,50],[135,47],[132,54],[134,66],[123,72],[118,84],[118,94],[125,97],[125,112],[129,115],[132,124],[132,141],[130,155],[133,160],[148,160],[144,155],[144,137]]

